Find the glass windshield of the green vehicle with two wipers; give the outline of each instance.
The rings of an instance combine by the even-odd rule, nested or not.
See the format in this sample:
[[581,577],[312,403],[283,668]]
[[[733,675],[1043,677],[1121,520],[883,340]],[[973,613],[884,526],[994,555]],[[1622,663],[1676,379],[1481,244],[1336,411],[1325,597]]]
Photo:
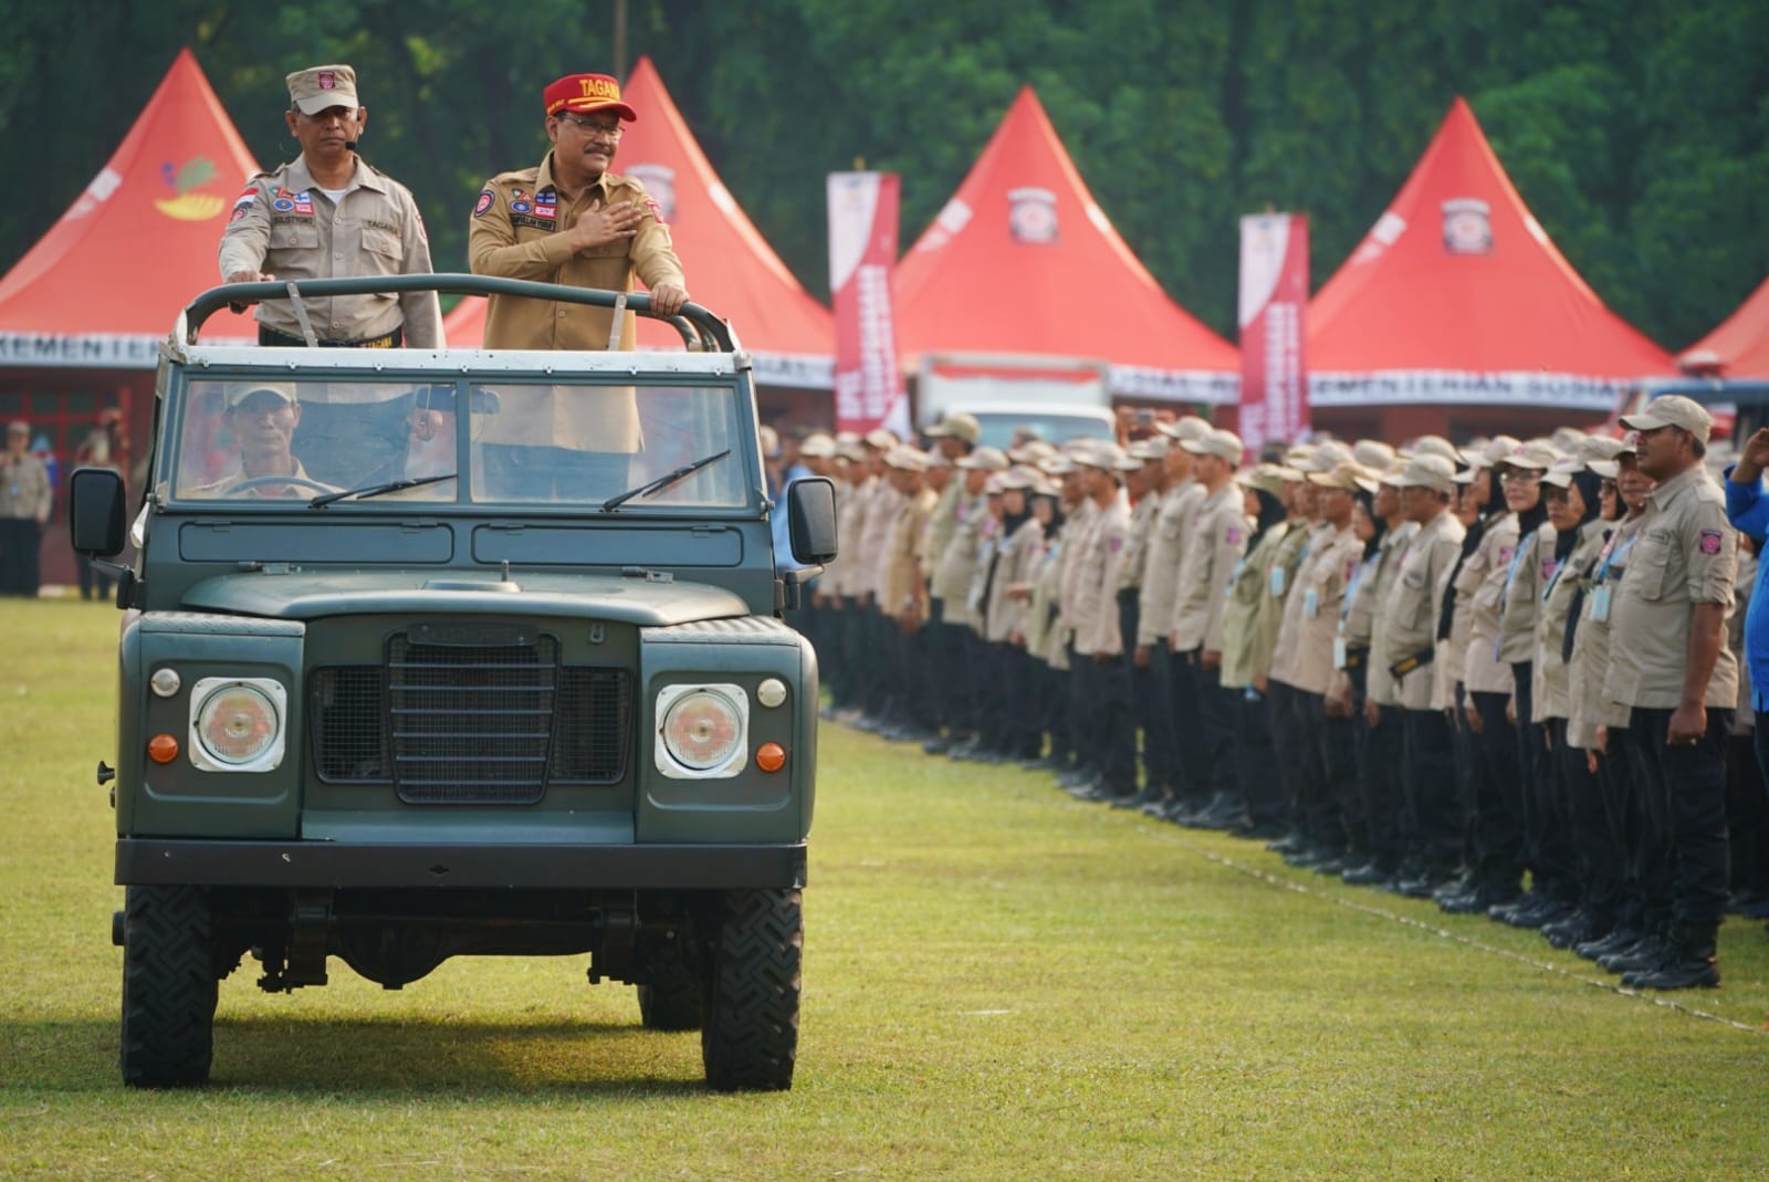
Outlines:
[[[545,504],[601,513],[743,508],[738,395],[729,386],[193,380],[168,458],[175,501],[299,501],[315,508]],[[465,412],[465,432],[462,432]]]

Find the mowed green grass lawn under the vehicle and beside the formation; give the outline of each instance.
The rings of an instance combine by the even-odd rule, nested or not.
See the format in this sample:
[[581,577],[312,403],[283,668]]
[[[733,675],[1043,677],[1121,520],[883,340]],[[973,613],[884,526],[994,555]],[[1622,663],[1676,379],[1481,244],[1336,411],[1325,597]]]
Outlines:
[[[1627,996],[1527,933],[1049,779],[826,727],[793,1092],[713,1095],[584,957],[221,986],[214,1083],[117,1078],[119,614],[0,602],[0,1175],[1758,1178],[1769,936]],[[1412,922],[1406,922],[1412,920]],[[1702,1010],[1712,1017],[1704,1017]],[[1714,1017],[1725,1021],[1714,1021]]]

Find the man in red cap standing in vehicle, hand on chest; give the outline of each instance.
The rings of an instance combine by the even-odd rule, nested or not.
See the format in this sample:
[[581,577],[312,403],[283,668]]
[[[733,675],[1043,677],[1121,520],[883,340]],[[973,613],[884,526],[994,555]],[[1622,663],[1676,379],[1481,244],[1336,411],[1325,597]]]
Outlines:
[[[621,124],[637,119],[619,83],[607,74],[570,74],[550,83],[541,101],[552,149],[538,166],[485,182],[467,232],[472,272],[614,292],[633,290],[637,276],[651,290],[653,311],[676,315],[688,290],[669,226],[639,180],[609,172]],[[609,349],[612,327],[610,308],[492,296],[485,349]],[[614,343],[633,349],[633,313],[623,315]],[[642,448],[630,388],[501,393],[502,409],[483,432],[494,488],[548,499],[563,492],[561,483],[584,497],[626,487]]]

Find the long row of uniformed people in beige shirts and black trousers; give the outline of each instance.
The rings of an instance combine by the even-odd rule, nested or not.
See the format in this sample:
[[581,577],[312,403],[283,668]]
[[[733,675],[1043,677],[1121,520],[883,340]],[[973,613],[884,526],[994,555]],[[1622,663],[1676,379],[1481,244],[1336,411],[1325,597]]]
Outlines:
[[[837,688],[837,717],[1541,929],[1635,987],[1718,984],[1728,906],[1769,911],[1748,628],[1727,628],[1739,529],[1769,533],[1769,432],[1723,494],[1698,403],[1624,426],[1247,462],[1185,418],[1129,446],[952,446],[941,495],[915,469],[953,458],[953,425],[927,453],[831,441],[860,541],[819,595],[849,635],[941,623],[888,649],[883,699]],[[886,495],[869,467],[915,490],[888,527],[854,508]]]

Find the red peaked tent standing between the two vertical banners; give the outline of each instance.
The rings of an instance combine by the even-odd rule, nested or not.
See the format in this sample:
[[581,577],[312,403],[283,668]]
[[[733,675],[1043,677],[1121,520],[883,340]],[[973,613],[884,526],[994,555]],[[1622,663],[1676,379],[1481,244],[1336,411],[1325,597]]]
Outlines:
[[1231,403],[1238,391],[1240,354],[1130,253],[1031,87],[892,285],[906,370],[925,352],[1100,357],[1120,395]]

